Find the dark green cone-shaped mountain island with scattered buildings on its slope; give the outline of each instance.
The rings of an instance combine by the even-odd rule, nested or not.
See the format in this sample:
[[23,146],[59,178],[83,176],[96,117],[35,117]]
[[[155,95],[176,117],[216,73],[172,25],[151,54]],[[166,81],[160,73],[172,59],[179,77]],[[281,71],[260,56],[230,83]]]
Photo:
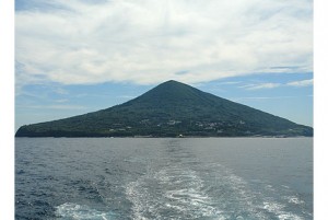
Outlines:
[[22,126],[16,137],[313,136],[313,128],[167,81],[106,109]]

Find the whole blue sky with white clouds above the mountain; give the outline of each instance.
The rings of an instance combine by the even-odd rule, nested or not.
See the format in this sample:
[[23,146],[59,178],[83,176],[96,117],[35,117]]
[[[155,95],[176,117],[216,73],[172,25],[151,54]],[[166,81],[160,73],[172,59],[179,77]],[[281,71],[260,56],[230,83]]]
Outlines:
[[15,0],[15,130],[177,80],[313,126],[313,1]]

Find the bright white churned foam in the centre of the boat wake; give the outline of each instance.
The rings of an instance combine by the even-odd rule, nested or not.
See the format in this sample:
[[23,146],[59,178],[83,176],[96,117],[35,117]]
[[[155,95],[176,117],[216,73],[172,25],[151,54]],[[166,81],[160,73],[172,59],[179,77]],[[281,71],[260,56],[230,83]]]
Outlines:
[[218,219],[221,213],[204,193],[202,180],[191,170],[165,167],[128,184],[126,194],[133,205],[132,219],[137,220]]

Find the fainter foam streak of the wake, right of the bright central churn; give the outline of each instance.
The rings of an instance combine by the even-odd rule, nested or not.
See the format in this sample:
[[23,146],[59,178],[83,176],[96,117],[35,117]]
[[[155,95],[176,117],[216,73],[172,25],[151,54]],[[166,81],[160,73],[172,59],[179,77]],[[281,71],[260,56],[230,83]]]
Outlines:
[[[223,210],[221,216],[226,219],[263,219],[303,220],[300,215],[289,211],[282,202],[272,197],[279,192],[271,185],[254,190],[244,178],[220,164],[209,164],[209,170],[215,170],[213,189],[216,195],[216,206]],[[272,195],[273,194],[273,195]],[[286,197],[288,202],[303,205],[296,196]]]

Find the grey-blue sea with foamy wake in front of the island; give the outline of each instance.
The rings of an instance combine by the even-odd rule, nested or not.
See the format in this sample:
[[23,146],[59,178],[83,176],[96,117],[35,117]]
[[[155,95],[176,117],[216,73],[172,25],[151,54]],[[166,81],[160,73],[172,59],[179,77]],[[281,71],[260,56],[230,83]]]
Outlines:
[[15,219],[313,219],[313,139],[16,138]]

